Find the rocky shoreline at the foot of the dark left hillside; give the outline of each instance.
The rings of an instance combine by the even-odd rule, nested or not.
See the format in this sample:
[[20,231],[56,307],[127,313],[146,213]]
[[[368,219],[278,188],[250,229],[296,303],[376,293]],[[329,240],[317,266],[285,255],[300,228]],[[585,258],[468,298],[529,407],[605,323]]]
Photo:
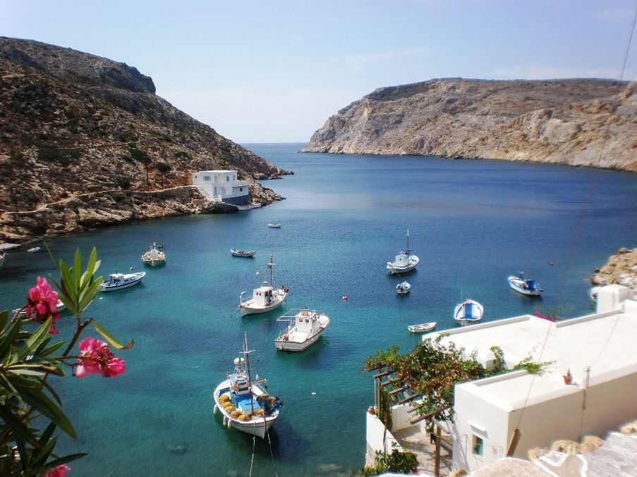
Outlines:
[[[256,182],[250,189],[253,203],[267,205],[284,199]],[[104,190],[77,194],[33,211],[4,212],[0,215],[0,242],[28,243],[133,221],[236,211],[238,208],[231,204],[205,199],[192,185],[151,192]]]

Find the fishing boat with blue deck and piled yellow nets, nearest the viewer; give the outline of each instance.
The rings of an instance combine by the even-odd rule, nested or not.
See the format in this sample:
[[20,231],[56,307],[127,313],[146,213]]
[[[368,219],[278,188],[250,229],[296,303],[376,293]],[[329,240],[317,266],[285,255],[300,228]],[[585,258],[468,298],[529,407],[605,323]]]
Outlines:
[[214,414],[224,416],[224,426],[265,438],[267,430],[279,418],[283,405],[278,397],[270,396],[265,380],[253,381],[250,376],[248,337],[243,340],[243,352],[234,360],[234,371],[226,373],[212,392]]

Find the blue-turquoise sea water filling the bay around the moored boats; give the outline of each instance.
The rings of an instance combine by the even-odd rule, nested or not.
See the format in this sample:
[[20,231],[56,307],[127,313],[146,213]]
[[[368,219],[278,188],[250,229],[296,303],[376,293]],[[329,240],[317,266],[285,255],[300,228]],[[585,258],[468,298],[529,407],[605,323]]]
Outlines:
[[[620,247],[637,239],[637,176],[582,168],[439,158],[296,154],[303,144],[247,147],[295,175],[264,182],[286,200],[230,215],[136,223],[59,237],[54,254],[98,248],[100,271],[145,269],[142,285],[102,294],[93,316],[135,347],[119,355],[127,372],[60,381],[64,409],[80,436],[60,450],[89,452],[69,476],[247,476],[253,438],[212,416],[212,388],[231,370],[248,333],[254,371],[284,402],[271,440],[257,439],[254,476],[346,475],[363,465],[365,409],[373,404],[366,356],[417,342],[406,326],[454,326],[462,297],[485,306],[485,321],[559,308],[571,317],[592,311],[588,277]],[[279,222],[281,229],[266,227]],[[394,287],[385,264],[405,246],[420,257],[408,275],[411,294]],[[166,247],[168,264],[143,268],[151,242]],[[231,248],[255,249],[255,259]],[[275,285],[288,302],[270,314],[240,318],[238,296],[265,275],[274,254]],[[553,265],[550,265],[553,262]],[[542,299],[511,291],[518,271],[538,280]],[[10,254],[0,268],[3,307],[22,304],[37,275],[51,273],[44,252]],[[255,275],[259,271],[262,275]],[[563,283],[563,287],[562,287]],[[348,295],[348,302],[341,299]],[[302,354],[274,348],[276,318],[310,306],[332,326]],[[64,337],[71,323],[63,315]],[[494,345],[497,343],[494,343]],[[312,395],[315,392],[316,395]]]

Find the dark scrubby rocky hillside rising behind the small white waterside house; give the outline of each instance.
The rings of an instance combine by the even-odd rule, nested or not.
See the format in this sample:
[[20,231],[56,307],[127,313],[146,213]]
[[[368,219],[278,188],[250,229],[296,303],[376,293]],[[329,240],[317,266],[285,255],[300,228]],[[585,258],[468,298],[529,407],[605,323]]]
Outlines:
[[0,37],[0,213],[188,185],[194,171],[224,168],[250,180],[259,202],[281,199],[252,179],[287,171],[171,106],[136,68]]

